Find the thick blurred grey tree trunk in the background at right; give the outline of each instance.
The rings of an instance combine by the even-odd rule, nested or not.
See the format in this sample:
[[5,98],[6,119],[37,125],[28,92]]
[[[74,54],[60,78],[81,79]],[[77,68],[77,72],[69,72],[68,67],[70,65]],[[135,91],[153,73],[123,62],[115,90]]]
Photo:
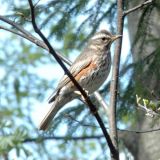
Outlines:
[[[129,1],[128,8],[133,8],[138,4],[143,3],[144,0],[132,0]],[[145,95],[145,91],[140,91],[140,96],[144,98],[149,98],[152,100],[157,100],[156,97],[160,97],[160,76],[159,68],[160,62],[156,61],[155,50],[157,49],[159,43],[157,41],[150,41],[153,39],[160,39],[160,2],[156,2],[156,7],[150,12],[148,10],[146,14],[148,14],[148,19],[146,20],[147,27],[141,30],[139,36],[146,36],[145,39],[136,39],[137,30],[140,28],[139,21],[142,21],[141,16],[144,13],[144,10],[147,7],[144,7],[142,10],[138,10],[136,12],[131,13],[128,16],[128,26],[129,26],[129,35],[132,44],[132,55],[133,61],[137,62],[142,60],[143,65],[140,71],[135,70],[135,82],[140,84],[147,94]],[[158,4],[159,3],[159,4]],[[150,13],[149,13],[150,12]],[[141,33],[143,33],[141,35]],[[143,45],[143,46],[142,46]],[[148,60],[145,61],[146,57]],[[150,67],[151,64],[157,64],[157,66]],[[159,66],[159,68],[157,68]],[[152,96],[152,93],[155,94],[155,97]],[[145,97],[147,96],[147,97]],[[141,111],[139,111],[141,112]],[[138,115],[138,128],[139,130],[144,129],[152,129],[152,128],[160,128],[159,119],[155,120],[151,117],[144,116],[144,112],[139,113]],[[124,138],[125,137],[125,138]],[[144,134],[131,134],[127,133],[127,135],[123,136],[123,140],[129,151],[133,154],[136,160],[158,160],[160,158],[160,133],[159,132],[151,132]]]

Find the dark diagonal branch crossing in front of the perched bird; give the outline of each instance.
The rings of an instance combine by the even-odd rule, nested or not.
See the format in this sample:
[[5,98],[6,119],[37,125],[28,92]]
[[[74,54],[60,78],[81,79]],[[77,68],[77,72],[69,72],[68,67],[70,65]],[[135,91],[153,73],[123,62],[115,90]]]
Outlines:
[[68,75],[68,77],[71,79],[71,81],[74,83],[74,85],[77,87],[77,89],[81,92],[82,96],[84,97],[86,103],[88,104],[91,112],[94,114],[96,120],[98,121],[99,125],[101,126],[101,129],[103,131],[103,134],[106,138],[106,141],[108,143],[108,146],[110,148],[111,153],[114,155],[115,152],[115,148],[112,144],[112,141],[110,139],[110,136],[107,132],[107,130],[105,129],[105,126],[102,122],[101,117],[99,116],[96,107],[93,105],[93,103],[91,102],[90,98],[87,96],[87,94],[85,93],[85,91],[82,89],[82,87],[78,84],[78,82],[74,79],[74,77],[72,76],[72,74],[69,72],[69,70],[66,68],[66,66],[64,65],[64,63],[61,61],[61,59],[57,56],[56,52],[54,51],[54,49],[52,48],[52,46],[50,45],[49,41],[47,40],[47,38],[43,35],[43,33],[39,30],[39,28],[37,27],[37,24],[35,22],[35,14],[34,14],[34,6],[32,3],[32,0],[28,0],[29,5],[30,5],[30,11],[31,11],[31,19],[32,19],[32,25],[33,28],[35,30],[36,33],[38,33],[38,35],[42,38],[42,40],[45,42],[45,44],[48,46],[49,48],[49,52],[55,57],[55,59],[57,60],[57,62],[61,65],[61,67],[63,68],[63,70],[65,71],[65,73]]

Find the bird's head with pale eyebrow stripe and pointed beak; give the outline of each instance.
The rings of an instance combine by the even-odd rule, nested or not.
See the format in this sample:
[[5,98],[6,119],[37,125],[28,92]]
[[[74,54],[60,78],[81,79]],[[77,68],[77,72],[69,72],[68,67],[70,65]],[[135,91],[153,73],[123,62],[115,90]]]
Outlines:
[[110,48],[113,41],[116,39],[122,37],[121,35],[112,35],[107,30],[101,30],[100,32],[97,32],[91,39],[89,40],[89,46],[91,48],[97,49],[105,49]]

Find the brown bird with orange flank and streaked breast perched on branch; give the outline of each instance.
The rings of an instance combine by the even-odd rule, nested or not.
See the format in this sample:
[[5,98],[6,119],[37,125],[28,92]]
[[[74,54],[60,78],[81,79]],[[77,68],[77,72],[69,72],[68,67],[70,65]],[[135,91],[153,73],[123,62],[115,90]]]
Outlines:
[[[110,47],[112,42],[120,37],[122,36],[112,35],[104,29],[95,33],[69,68],[72,76],[88,95],[98,90],[107,79],[111,69]],[[49,99],[52,106],[42,119],[39,129],[46,130],[59,110],[76,98],[80,98],[80,93],[70,78],[64,74]]]

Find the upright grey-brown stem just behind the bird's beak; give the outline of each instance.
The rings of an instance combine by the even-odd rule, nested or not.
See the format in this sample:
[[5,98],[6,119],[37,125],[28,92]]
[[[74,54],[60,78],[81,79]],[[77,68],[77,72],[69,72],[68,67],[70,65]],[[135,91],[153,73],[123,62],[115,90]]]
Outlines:
[[[117,32],[118,35],[123,35],[123,0],[117,1]],[[117,105],[117,93],[118,93],[118,77],[119,77],[119,66],[120,66],[120,56],[121,56],[122,38],[117,40],[114,59],[113,59],[113,71],[110,86],[110,135],[112,143],[116,149],[116,157],[112,157],[112,160],[119,159],[118,151],[118,136],[117,136],[117,125],[116,125],[116,105]],[[111,155],[112,156],[112,155]]]

